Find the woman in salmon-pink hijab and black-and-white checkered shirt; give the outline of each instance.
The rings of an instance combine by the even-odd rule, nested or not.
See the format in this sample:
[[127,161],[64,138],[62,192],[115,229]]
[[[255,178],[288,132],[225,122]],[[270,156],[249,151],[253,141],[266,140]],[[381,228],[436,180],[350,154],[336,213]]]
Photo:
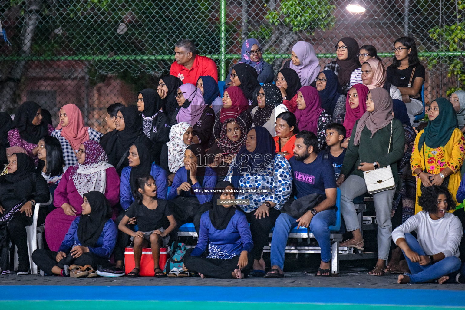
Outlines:
[[85,126],[81,111],[72,103],[62,106],[59,115],[59,124],[50,135],[60,141],[65,166],[76,165],[79,146],[88,140],[99,142],[102,134]]

